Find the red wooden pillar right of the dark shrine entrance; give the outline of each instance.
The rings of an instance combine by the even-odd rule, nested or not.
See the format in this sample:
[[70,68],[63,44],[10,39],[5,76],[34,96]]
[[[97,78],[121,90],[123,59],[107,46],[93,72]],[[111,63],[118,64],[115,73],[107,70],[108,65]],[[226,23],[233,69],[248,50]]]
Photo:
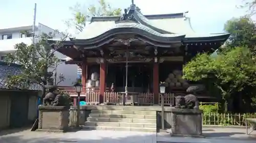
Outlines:
[[157,62],[153,65],[153,93],[154,104],[158,104],[159,96],[159,64]]

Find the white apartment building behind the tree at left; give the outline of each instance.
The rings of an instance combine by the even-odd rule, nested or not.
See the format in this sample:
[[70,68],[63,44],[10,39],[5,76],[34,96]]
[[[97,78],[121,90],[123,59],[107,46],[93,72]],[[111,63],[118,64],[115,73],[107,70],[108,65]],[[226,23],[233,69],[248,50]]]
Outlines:
[[[17,43],[24,42],[28,45],[32,44],[32,35],[24,35],[22,31],[31,31],[33,26],[25,27],[16,27],[8,29],[0,29],[0,60],[3,61],[7,53],[14,53],[14,45]],[[54,32],[54,29],[51,29],[41,23],[35,27],[35,35],[41,35],[42,33]],[[62,34],[56,34],[54,38],[61,38]],[[37,41],[37,40],[35,40]],[[66,59],[67,56],[56,52],[56,56],[59,59]],[[49,69],[51,70],[51,69]],[[65,64],[65,62],[60,63],[56,69],[56,82],[59,81],[58,75],[63,74],[65,76],[65,81],[60,82],[58,86],[73,86],[73,83],[77,79],[78,66],[74,64]]]

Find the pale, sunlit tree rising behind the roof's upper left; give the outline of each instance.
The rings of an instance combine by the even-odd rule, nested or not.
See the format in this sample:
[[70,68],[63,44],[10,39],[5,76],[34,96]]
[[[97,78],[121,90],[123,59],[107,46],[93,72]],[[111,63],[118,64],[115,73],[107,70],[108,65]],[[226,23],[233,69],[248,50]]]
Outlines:
[[75,25],[80,32],[86,26],[86,20],[92,16],[117,16],[121,15],[122,9],[112,8],[105,0],[99,0],[98,5],[91,5],[87,11],[83,11],[81,4],[76,4],[70,8],[74,17],[66,21],[68,26]]

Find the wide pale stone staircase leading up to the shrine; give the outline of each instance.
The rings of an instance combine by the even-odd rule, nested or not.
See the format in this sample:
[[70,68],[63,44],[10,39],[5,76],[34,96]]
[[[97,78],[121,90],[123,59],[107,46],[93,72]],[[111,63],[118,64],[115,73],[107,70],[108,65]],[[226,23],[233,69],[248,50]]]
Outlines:
[[92,109],[83,129],[156,132],[154,107],[104,106]]

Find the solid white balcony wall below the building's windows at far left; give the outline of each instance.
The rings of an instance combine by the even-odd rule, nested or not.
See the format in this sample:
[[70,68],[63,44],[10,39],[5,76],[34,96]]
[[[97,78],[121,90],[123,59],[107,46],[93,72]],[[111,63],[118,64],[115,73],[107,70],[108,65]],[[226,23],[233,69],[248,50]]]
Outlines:
[[14,51],[14,45],[21,42],[30,45],[32,44],[32,37],[0,40],[0,52]]

